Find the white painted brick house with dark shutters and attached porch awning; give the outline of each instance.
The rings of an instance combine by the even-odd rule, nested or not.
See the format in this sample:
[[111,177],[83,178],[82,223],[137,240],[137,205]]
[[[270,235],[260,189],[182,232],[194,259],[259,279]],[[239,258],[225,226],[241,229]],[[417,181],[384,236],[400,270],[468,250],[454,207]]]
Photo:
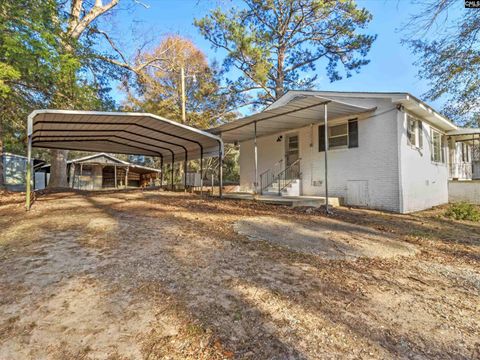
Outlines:
[[240,146],[240,188],[252,193],[408,213],[447,203],[449,180],[480,177],[480,130],[409,93],[289,91],[211,131]]

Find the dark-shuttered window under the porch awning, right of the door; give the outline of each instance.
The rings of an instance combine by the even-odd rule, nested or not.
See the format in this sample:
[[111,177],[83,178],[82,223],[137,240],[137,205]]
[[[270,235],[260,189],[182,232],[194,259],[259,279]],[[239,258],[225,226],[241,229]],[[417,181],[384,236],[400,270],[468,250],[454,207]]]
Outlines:
[[[318,127],[319,151],[325,151],[325,125]],[[358,121],[349,120],[348,123],[328,127],[328,148],[356,148],[358,147]]]

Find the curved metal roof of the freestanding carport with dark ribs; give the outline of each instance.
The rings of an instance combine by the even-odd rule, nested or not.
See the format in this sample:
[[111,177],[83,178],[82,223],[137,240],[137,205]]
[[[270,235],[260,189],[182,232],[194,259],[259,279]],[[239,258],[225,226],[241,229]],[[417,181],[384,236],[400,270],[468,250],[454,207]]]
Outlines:
[[206,131],[148,113],[36,110],[29,116],[32,146],[116,154],[163,156],[164,161],[223,153],[222,140]]

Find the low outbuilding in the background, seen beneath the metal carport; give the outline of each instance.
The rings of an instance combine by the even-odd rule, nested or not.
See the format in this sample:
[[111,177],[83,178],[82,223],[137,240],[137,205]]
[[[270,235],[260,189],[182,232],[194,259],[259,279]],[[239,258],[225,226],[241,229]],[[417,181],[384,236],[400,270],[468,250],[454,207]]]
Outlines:
[[[44,177],[41,184],[39,173]],[[80,190],[155,186],[160,185],[161,178],[160,169],[132,164],[106,153],[68,161],[67,173],[70,187]],[[38,189],[46,187],[49,175],[49,164],[35,173]]]

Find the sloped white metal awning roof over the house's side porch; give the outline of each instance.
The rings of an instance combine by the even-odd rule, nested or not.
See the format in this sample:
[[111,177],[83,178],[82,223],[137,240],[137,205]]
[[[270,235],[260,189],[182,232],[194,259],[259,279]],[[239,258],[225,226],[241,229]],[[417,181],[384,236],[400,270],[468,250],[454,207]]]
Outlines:
[[261,113],[244,117],[211,129],[213,134],[221,134],[226,142],[243,141],[254,137],[254,123],[257,123],[257,137],[281,131],[297,129],[316,122],[323,122],[323,105],[328,106],[328,120],[355,116],[374,111],[338,100],[317,95],[300,95],[285,105],[267,109]]

